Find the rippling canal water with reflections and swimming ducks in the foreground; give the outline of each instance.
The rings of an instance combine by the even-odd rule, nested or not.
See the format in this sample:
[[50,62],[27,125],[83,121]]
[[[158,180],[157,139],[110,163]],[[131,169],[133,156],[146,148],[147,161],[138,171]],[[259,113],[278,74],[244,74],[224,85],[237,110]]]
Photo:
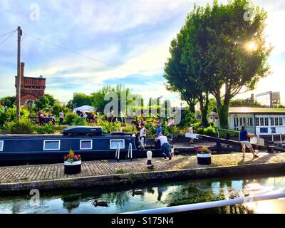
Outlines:
[[[231,177],[183,182],[150,183],[135,187],[40,192],[39,201],[31,195],[0,196],[0,213],[122,213],[172,205],[208,202],[285,191],[285,175]],[[108,207],[95,207],[108,202]],[[285,213],[285,198],[248,202],[190,213]]]

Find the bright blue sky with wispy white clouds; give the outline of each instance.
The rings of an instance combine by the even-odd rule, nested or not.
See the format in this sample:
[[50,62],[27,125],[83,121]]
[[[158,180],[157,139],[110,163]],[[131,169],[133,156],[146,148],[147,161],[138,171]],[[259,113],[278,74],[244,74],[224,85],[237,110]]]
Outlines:
[[[73,93],[90,94],[119,83],[145,99],[162,95],[180,105],[180,96],[166,90],[163,78],[170,41],[194,4],[207,2],[212,4],[212,0],[0,0],[0,35],[21,26],[24,76],[42,75],[46,93],[62,102]],[[253,3],[269,15],[265,33],[274,46],[271,75],[237,98],[272,90],[280,91],[285,103],[285,1]],[[17,37],[11,34],[4,43],[10,34],[0,37],[0,97],[16,93]]]

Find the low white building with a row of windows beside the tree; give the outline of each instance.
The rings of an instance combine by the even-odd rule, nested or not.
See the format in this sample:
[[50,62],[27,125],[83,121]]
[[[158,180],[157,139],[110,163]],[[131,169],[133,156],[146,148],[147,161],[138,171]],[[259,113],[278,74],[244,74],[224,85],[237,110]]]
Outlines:
[[256,135],[285,134],[285,108],[229,108],[229,128],[247,131]]

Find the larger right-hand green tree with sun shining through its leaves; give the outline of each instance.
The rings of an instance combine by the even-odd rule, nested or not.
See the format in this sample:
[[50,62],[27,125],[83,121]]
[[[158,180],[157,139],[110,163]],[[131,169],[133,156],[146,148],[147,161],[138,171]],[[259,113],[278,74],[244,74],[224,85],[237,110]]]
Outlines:
[[269,73],[271,47],[266,46],[264,38],[266,12],[255,6],[247,11],[247,6],[247,0],[228,4],[215,0],[212,7],[195,6],[180,31],[187,33],[182,44],[186,75],[196,77],[202,90],[214,95],[222,128],[228,127],[230,100],[242,89],[252,90]]

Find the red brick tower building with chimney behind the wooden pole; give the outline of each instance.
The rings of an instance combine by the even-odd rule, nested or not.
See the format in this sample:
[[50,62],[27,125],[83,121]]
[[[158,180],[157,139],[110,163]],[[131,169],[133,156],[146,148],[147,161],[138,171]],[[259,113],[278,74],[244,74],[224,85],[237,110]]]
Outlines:
[[[21,63],[21,104],[31,100],[33,103],[40,99],[46,89],[46,78],[24,77],[25,63]],[[17,76],[15,77],[15,86],[17,86]]]

